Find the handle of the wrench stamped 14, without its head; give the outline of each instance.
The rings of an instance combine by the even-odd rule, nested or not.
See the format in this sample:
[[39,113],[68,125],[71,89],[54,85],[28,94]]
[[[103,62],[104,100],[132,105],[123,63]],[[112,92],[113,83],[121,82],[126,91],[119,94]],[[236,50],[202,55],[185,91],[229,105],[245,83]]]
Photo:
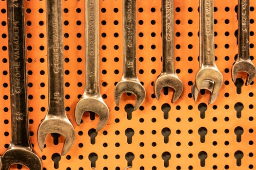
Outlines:
[[174,74],[174,0],[162,0],[162,72]]

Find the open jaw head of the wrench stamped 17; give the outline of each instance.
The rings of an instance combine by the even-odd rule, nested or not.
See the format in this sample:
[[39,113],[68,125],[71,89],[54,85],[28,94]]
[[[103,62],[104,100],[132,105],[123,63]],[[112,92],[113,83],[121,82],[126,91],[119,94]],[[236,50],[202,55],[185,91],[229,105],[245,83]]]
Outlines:
[[75,118],[78,126],[80,125],[83,113],[89,111],[94,112],[99,116],[99,122],[96,129],[98,132],[105,126],[109,119],[108,106],[100,96],[95,97],[86,93],[83,94],[75,109]]

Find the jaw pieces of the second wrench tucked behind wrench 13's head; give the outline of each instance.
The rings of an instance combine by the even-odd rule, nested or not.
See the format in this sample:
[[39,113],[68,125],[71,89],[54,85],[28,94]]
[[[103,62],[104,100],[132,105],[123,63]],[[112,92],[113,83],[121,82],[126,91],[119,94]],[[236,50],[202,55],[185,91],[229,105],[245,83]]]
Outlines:
[[[214,82],[212,82],[211,80],[204,80],[201,85],[201,89],[206,89],[211,92],[211,96],[210,96],[210,100],[209,100],[208,104],[214,103],[217,100],[217,97],[219,94],[218,92],[213,94],[213,88],[214,88]],[[199,94],[199,90],[197,89],[196,84],[193,84],[192,85],[192,96],[193,96],[194,101],[197,101],[198,94]]]

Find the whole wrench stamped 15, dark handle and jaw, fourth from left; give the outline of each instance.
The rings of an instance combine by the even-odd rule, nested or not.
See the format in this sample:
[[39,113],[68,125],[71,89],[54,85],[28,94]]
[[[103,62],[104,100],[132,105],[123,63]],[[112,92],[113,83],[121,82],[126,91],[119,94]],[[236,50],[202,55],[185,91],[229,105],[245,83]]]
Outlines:
[[145,88],[140,84],[136,71],[136,0],[123,0],[123,75],[115,87],[114,98],[117,106],[123,93],[137,97],[134,110],[144,102]]

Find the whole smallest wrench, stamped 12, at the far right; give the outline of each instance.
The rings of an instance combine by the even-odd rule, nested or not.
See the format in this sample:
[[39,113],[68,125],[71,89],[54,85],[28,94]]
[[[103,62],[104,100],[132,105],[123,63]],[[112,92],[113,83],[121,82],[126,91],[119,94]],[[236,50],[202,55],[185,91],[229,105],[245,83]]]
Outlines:
[[250,1],[238,0],[238,55],[231,73],[236,82],[238,72],[246,72],[248,77],[245,85],[250,85],[256,76],[256,68],[250,58],[249,25]]

